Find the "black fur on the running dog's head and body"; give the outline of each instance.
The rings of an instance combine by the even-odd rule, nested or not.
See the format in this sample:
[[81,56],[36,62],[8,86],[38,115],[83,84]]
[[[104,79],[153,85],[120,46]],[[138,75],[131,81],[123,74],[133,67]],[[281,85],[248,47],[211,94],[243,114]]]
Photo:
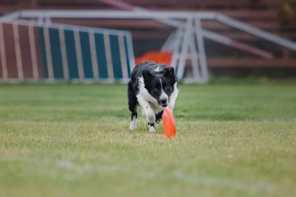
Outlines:
[[[148,91],[148,94],[147,91],[142,90],[141,92],[140,90],[143,88],[143,85],[140,85],[140,83],[143,83],[143,81],[143,85]],[[128,106],[129,110],[132,112],[131,121],[133,121],[134,118],[137,119],[138,117],[137,106],[141,105],[141,101],[139,103],[137,96],[139,94],[143,94],[141,95],[141,98],[147,99],[149,104],[151,104],[151,97],[154,98],[152,99],[152,102],[155,102],[152,103],[154,107],[153,111],[155,112],[155,122],[158,123],[158,121],[162,119],[163,108],[167,107],[170,103],[170,96],[174,92],[175,83],[177,83],[177,81],[178,80],[173,67],[167,65],[157,65],[154,62],[149,61],[135,66],[131,73],[131,80],[128,83],[127,92]],[[149,106],[141,107],[145,111],[144,107],[148,109]],[[159,108],[160,110],[155,110],[155,108]],[[149,126],[154,128],[154,122],[148,122],[148,127]]]

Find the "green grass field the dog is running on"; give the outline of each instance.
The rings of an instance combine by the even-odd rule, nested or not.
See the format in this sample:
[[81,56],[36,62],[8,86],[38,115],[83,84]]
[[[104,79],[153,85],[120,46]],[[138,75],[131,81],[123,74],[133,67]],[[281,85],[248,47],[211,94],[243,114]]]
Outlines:
[[296,196],[296,85],[180,85],[178,137],[125,85],[0,85],[0,197]]

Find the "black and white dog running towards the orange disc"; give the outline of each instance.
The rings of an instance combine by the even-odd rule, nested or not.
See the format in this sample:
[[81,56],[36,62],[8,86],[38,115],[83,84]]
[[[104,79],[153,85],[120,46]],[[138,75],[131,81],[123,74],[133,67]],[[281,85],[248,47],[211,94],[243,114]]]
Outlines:
[[154,122],[162,119],[163,109],[172,111],[178,96],[178,79],[173,67],[146,61],[134,67],[128,83],[128,107],[132,112],[130,130],[137,128],[137,107],[148,121],[148,129],[155,132]]

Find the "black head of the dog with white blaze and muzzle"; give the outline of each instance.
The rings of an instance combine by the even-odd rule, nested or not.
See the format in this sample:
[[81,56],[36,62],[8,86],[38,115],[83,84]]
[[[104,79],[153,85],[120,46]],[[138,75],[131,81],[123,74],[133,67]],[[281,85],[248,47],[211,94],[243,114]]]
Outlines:
[[165,67],[160,74],[154,74],[149,69],[144,69],[143,79],[148,93],[157,100],[159,105],[166,107],[176,82],[174,68]]

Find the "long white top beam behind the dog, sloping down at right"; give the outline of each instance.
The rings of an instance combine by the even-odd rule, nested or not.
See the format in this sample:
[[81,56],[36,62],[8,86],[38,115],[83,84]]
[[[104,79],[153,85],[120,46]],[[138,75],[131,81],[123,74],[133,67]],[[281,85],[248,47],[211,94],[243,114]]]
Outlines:
[[237,28],[241,31],[253,34],[269,40],[283,47],[296,51],[296,43],[278,35],[265,32],[238,20],[232,19],[216,12],[192,12],[192,11],[115,11],[115,10],[21,10],[18,12],[21,18],[108,18],[108,19],[184,19],[198,18],[201,20],[217,20],[225,25]]

